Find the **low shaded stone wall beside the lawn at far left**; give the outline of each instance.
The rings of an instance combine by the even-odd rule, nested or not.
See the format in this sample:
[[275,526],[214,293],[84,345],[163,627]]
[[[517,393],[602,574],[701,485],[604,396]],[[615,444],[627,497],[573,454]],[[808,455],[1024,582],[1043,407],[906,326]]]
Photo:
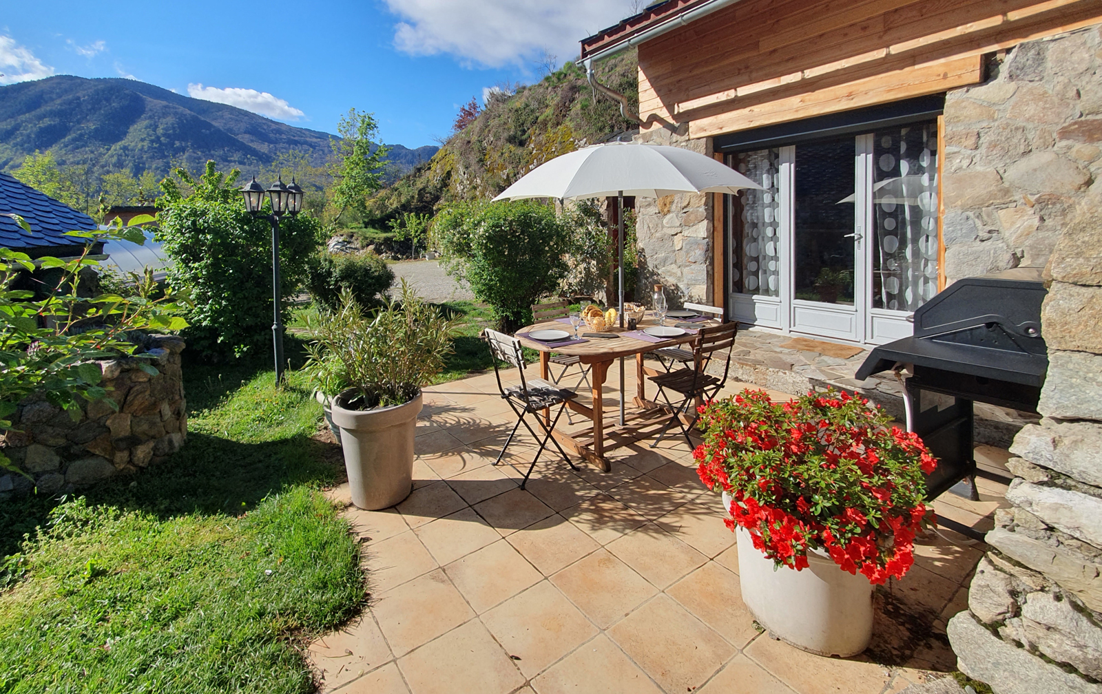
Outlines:
[[[41,395],[20,403],[17,430],[0,446],[34,481],[0,475],[0,500],[26,494],[72,491],[118,474],[132,473],[180,448],[187,434],[187,403],[180,369],[184,341],[154,335],[141,350],[152,359],[101,361],[107,400],[87,403],[77,419]],[[156,368],[151,376],[141,362]],[[0,470],[2,471],[2,470]]]

